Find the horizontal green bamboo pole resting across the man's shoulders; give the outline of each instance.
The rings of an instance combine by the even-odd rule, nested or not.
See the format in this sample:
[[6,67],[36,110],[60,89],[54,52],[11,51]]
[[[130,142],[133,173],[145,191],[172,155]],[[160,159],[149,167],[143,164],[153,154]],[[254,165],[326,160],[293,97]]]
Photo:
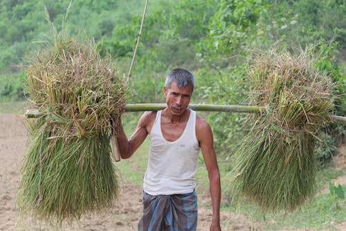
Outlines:
[[[145,111],[158,111],[166,107],[165,103],[134,103],[125,105],[125,112],[145,112]],[[244,105],[214,105],[214,104],[190,104],[189,108],[195,111],[203,112],[245,112],[257,113],[266,112],[265,107],[244,106]],[[27,118],[42,117],[42,113],[36,109],[26,111]],[[346,117],[336,115],[331,116],[333,121],[346,124]]]

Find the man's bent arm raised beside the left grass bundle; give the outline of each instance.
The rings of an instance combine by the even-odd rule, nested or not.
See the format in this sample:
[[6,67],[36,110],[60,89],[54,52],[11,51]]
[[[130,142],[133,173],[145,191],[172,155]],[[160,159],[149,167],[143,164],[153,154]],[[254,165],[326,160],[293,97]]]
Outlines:
[[118,119],[118,124],[116,127],[116,137],[118,141],[118,147],[120,151],[120,156],[122,159],[127,159],[134,154],[134,152],[139,148],[140,144],[143,144],[145,138],[148,135],[147,124],[149,121],[149,112],[145,112],[142,117],[140,117],[137,128],[130,139],[127,139],[124,128],[122,127],[121,119]]

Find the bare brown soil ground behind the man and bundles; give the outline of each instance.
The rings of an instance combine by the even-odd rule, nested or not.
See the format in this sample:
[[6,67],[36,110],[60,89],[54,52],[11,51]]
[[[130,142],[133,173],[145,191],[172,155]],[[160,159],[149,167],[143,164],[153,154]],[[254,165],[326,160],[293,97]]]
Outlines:
[[[21,117],[0,113],[0,230],[54,230],[45,223],[19,219],[17,192],[19,170],[23,161],[28,132]],[[341,166],[346,166],[346,147],[341,155]],[[336,183],[346,185],[345,176]],[[63,230],[136,230],[142,214],[142,187],[123,180],[120,198],[107,212],[82,217],[79,223],[64,225]],[[197,230],[209,230],[212,212],[208,193],[199,195],[199,221]],[[222,230],[263,230],[244,215],[221,211]]]

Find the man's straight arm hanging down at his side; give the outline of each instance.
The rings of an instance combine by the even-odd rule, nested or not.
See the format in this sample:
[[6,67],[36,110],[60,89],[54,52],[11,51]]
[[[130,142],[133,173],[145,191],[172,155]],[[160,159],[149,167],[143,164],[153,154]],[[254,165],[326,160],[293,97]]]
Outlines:
[[208,171],[210,196],[212,199],[212,224],[210,230],[219,231],[220,228],[220,202],[221,202],[221,182],[219,166],[214,149],[212,129],[209,123],[197,117],[197,139],[201,146],[204,163]]

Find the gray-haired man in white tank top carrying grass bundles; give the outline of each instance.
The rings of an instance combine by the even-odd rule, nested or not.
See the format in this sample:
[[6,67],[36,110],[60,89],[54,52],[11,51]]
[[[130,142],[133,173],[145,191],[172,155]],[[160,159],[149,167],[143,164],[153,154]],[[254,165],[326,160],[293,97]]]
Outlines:
[[173,69],[163,88],[167,106],[145,112],[136,131],[127,139],[118,123],[118,146],[123,159],[131,157],[145,137],[150,151],[143,183],[143,217],[138,230],[196,230],[197,195],[194,175],[199,150],[208,170],[212,199],[210,230],[221,230],[221,186],[210,125],[190,110],[194,76],[187,69]]

